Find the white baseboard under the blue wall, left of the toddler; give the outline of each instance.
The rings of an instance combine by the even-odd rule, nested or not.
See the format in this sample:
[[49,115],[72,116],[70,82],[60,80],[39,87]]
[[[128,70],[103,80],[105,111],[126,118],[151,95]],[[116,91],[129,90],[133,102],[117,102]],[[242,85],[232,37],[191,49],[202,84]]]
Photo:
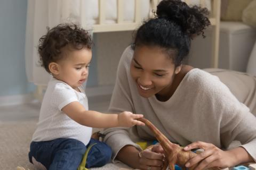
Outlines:
[[35,97],[32,93],[25,95],[0,96],[0,106],[20,105],[31,103],[33,101],[35,101]]

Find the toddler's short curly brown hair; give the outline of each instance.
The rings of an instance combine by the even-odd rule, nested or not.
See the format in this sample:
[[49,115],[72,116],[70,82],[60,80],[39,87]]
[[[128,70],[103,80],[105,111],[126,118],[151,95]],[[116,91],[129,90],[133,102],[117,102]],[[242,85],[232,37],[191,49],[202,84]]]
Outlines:
[[62,48],[91,49],[93,41],[87,31],[76,24],[59,24],[39,39],[38,53],[41,65],[50,73],[49,64],[63,58]]

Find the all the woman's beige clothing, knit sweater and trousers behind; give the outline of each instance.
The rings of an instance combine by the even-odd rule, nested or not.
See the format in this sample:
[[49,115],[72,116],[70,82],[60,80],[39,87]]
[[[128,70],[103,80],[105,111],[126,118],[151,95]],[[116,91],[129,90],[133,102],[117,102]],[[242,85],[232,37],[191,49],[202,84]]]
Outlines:
[[[162,102],[155,96],[143,98],[137,92],[137,86],[130,75],[132,56],[133,50],[127,47],[118,65],[109,112],[131,111],[143,114],[170,141],[181,146],[204,141],[223,149],[233,140],[238,140],[256,160],[256,117],[227,87],[231,87],[231,91],[241,101],[254,109],[255,114],[255,78],[238,72],[222,70],[222,74],[221,70],[208,70],[222,81],[225,80],[226,86],[218,77],[193,69],[185,75],[173,96]],[[104,141],[114,151],[113,160],[126,145],[133,145],[140,150],[130,138],[132,132],[140,139],[154,140],[153,133],[146,126],[134,126],[132,130],[107,129]]]

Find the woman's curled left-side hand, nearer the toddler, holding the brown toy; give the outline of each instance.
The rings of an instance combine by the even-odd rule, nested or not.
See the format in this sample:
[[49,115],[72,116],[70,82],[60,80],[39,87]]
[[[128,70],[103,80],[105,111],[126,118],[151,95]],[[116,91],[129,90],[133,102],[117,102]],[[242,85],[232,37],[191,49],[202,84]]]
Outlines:
[[148,147],[139,152],[139,169],[161,170],[164,165],[163,148],[160,145]]

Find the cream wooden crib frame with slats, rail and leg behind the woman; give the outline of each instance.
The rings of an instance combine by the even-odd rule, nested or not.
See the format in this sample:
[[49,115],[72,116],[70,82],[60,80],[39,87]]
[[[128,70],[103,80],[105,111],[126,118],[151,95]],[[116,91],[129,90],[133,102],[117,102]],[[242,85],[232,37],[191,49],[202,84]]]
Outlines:
[[[94,0],[95,1],[95,0]],[[134,5],[134,19],[132,21],[124,21],[124,1],[125,0],[116,0],[117,1],[117,18],[114,23],[105,23],[106,20],[106,0],[99,1],[99,16],[97,23],[92,25],[93,32],[110,32],[110,31],[129,31],[135,30],[141,24],[142,15],[141,15],[141,0],[135,0]],[[130,0],[126,0],[130,1]],[[153,17],[152,10],[156,10],[157,4],[161,0],[150,0],[149,1],[149,18]],[[218,67],[218,51],[219,51],[219,27],[220,27],[220,3],[221,0],[198,0],[197,3],[193,0],[184,0],[187,4],[201,5],[202,7],[207,7],[206,1],[210,2],[210,22],[213,27],[213,42],[212,42],[212,62],[211,67]],[[199,4],[198,4],[199,3]],[[85,1],[81,1],[81,18],[80,23],[82,27],[86,26],[86,14],[82,7],[84,7]]]

